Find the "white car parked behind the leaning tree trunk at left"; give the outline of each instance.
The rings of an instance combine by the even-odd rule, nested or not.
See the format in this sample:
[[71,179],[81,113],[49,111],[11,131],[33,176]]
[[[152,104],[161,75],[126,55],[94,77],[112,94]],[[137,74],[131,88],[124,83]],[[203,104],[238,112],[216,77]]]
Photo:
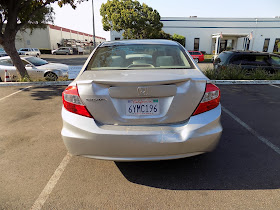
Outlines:
[[[61,63],[48,63],[47,61],[36,58],[33,56],[21,56],[21,60],[25,65],[28,75],[31,79],[47,79],[47,80],[57,80],[58,77],[68,77],[69,67]],[[18,78],[16,72],[16,67],[9,56],[0,58],[0,80],[4,81],[5,70],[12,81]]]

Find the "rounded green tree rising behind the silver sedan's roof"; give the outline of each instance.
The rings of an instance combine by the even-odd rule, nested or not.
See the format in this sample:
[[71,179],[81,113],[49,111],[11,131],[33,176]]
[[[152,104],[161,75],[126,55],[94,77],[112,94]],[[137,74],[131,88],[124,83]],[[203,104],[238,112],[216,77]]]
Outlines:
[[103,29],[120,32],[125,39],[158,38],[163,24],[159,13],[134,0],[108,0],[100,8]]

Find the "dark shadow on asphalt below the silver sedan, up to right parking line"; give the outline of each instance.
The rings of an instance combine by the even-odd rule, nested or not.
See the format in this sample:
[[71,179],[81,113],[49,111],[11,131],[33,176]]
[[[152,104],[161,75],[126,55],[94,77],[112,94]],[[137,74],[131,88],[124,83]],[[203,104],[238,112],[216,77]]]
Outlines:
[[179,160],[115,162],[130,182],[170,190],[280,188],[280,156],[223,115],[215,151]]

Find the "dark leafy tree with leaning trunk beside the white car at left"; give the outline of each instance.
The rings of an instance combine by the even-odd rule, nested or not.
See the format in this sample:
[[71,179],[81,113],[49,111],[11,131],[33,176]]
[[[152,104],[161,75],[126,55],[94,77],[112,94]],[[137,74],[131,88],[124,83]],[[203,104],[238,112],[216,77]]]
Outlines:
[[[82,2],[84,0],[77,0]],[[11,57],[21,78],[29,78],[15,47],[15,38],[19,30],[44,28],[53,21],[51,3],[59,6],[70,4],[76,8],[75,0],[0,0],[0,44]]]

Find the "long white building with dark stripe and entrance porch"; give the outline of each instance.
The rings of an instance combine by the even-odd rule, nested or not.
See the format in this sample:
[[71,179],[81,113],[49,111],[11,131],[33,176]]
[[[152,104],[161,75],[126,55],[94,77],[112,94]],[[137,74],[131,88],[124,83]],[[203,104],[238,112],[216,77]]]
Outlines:
[[[186,37],[187,50],[218,54],[223,50],[278,52],[280,18],[162,17],[163,30]],[[122,39],[111,32],[111,40]],[[279,45],[280,51],[280,45]]]

